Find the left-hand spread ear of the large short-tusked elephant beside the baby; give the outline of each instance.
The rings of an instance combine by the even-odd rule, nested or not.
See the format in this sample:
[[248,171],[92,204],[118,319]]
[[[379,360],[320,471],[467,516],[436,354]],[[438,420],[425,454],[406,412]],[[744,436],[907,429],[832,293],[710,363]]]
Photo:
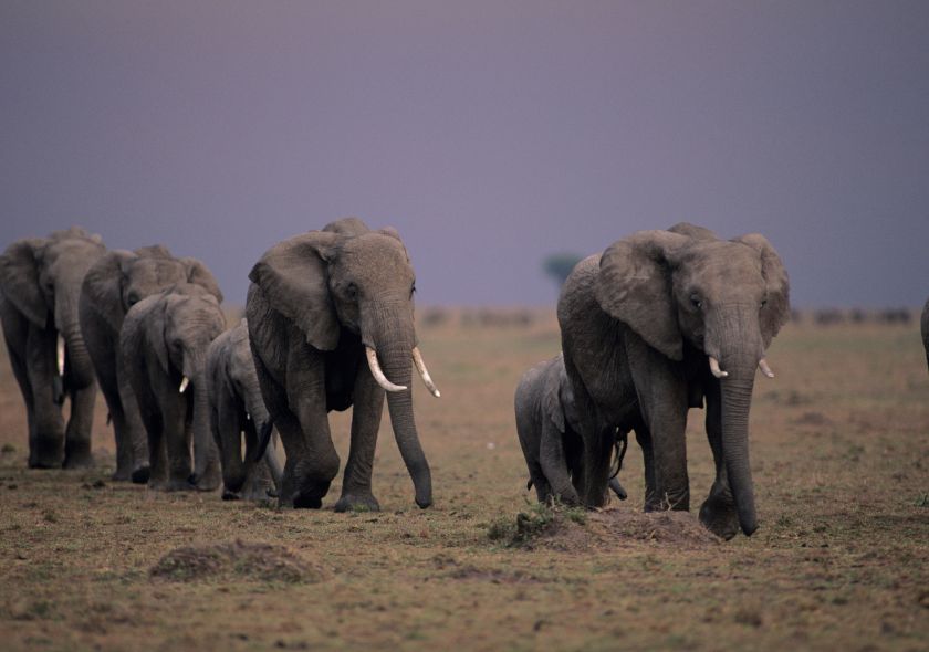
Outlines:
[[608,315],[672,360],[683,359],[683,339],[668,259],[689,240],[669,231],[639,231],[618,240],[603,252],[594,287]]

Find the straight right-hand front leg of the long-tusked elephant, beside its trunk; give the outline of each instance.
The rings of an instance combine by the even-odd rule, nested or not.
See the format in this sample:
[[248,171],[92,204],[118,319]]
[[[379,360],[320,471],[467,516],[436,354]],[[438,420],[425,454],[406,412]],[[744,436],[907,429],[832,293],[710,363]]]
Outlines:
[[384,390],[374,380],[370,369],[363,365],[355,378],[352,443],[345,475],[342,479],[342,496],[335,504],[336,512],[380,509],[377,498],[372,493],[370,476],[383,412]]

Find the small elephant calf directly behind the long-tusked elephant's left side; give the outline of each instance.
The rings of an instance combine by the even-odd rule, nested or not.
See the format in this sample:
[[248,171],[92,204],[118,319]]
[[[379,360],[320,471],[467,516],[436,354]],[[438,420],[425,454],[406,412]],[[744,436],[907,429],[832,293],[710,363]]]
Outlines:
[[254,460],[258,435],[271,417],[258,386],[246,319],[217,337],[207,350],[207,393],[210,428],[222,462],[223,499],[267,498],[279,490],[282,471],[273,444],[261,460]]

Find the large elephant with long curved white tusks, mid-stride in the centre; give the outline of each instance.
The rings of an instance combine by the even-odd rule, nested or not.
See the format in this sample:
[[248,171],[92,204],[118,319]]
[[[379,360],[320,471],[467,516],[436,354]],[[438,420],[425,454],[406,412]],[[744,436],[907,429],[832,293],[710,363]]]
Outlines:
[[415,276],[394,229],[344,218],[278,243],[252,267],[249,338],[264,403],[284,444],[281,505],[320,508],[338,473],[331,410],[353,407],[336,512],[379,509],[372,465],[385,392],[416,504],[432,504],[409,388],[411,364],[436,397],[414,326]]

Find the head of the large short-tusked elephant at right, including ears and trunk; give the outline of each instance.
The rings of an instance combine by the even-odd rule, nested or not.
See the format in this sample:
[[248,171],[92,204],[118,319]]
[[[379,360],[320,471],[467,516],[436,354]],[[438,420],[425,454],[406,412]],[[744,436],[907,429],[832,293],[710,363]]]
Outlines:
[[640,231],[601,257],[595,287],[609,315],[672,360],[685,343],[706,354],[719,382],[722,450],[739,524],[756,528],[749,467],[748,418],[755,369],[773,376],[764,353],[790,316],[789,281],[781,259],[759,234],[730,241],[678,224]]

